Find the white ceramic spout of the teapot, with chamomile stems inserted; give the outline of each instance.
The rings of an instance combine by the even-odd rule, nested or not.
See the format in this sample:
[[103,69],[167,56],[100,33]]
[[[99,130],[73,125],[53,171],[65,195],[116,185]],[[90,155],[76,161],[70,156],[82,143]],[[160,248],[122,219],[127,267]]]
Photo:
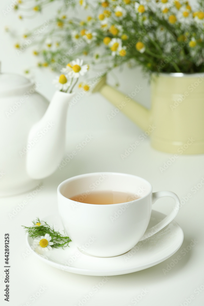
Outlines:
[[56,91],[44,116],[35,123],[28,135],[26,167],[33,179],[52,174],[65,151],[65,129],[69,101],[74,93]]

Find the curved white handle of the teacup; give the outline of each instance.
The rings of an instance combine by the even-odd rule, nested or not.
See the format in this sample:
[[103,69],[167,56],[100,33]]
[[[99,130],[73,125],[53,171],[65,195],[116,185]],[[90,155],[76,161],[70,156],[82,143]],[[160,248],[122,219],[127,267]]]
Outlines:
[[180,200],[174,192],[171,192],[171,191],[153,192],[153,194],[152,194],[152,204],[154,204],[158,199],[160,199],[164,196],[169,196],[169,197],[171,197],[175,200],[175,206],[173,207],[172,212],[168,216],[166,216],[162,221],[160,221],[158,224],[156,224],[155,226],[146,230],[143,237],[139,241],[142,241],[144,239],[147,239],[147,238],[153,236],[158,231],[163,229],[166,225],[168,225],[176,217],[176,215],[177,215],[177,213],[180,209]]

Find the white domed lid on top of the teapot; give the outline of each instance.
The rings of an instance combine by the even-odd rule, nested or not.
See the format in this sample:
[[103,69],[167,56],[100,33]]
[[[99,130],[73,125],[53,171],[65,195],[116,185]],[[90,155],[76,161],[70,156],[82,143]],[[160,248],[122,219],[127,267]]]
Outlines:
[[0,73],[0,93],[27,88],[31,85],[31,81],[24,76],[20,76],[14,73]]

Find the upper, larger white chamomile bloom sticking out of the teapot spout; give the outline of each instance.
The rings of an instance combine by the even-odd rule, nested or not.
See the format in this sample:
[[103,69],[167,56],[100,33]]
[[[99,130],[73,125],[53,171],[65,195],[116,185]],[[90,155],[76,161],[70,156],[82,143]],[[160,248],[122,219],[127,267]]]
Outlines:
[[65,73],[70,78],[78,78],[87,73],[88,65],[83,65],[83,60],[77,58],[76,61],[72,61],[66,65],[66,68],[62,68],[61,72]]

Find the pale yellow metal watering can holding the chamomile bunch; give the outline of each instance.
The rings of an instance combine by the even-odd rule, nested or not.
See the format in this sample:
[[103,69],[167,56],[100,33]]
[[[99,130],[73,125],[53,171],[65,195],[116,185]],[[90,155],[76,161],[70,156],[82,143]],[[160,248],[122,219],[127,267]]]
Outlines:
[[204,73],[160,73],[151,76],[151,110],[106,84],[104,76],[92,92],[100,92],[151,133],[153,148],[174,154],[204,153]]

